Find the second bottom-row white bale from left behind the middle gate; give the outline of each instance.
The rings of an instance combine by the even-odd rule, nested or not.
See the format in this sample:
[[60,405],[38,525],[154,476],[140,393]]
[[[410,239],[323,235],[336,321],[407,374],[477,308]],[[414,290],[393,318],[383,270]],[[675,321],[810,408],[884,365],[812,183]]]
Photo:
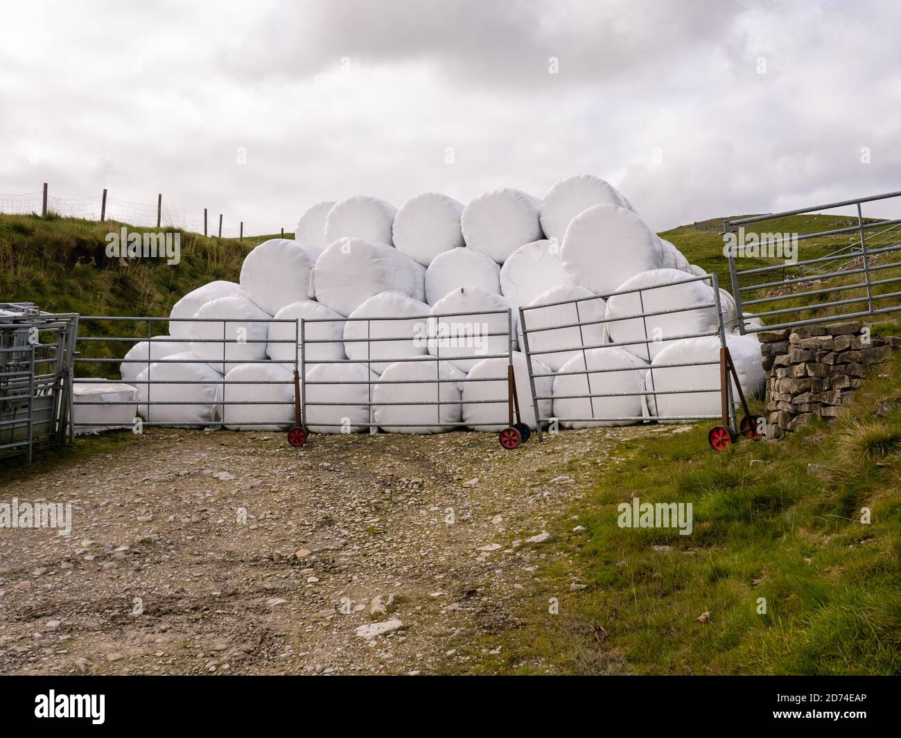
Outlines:
[[460,369],[447,361],[390,364],[372,389],[375,422],[385,433],[451,431],[463,416],[465,378]]

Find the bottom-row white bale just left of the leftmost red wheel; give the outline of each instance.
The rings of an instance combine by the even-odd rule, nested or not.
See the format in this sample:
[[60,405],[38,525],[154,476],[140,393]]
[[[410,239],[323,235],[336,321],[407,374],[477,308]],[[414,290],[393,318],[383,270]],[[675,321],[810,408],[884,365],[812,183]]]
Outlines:
[[216,387],[214,402],[216,415],[230,431],[286,430],[296,422],[294,369],[284,364],[238,364]]

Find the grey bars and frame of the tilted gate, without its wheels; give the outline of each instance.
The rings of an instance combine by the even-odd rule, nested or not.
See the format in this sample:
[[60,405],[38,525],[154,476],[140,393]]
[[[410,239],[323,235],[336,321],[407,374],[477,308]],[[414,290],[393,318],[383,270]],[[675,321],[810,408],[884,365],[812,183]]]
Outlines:
[[[658,310],[658,311],[645,311],[644,309],[644,295],[649,292],[653,292],[657,289],[665,289],[667,287],[672,287],[674,285],[683,285],[690,284],[692,282],[705,282],[710,285],[713,290],[713,299],[709,303],[698,303],[687,306],[680,306],[669,310]],[[618,295],[631,295],[637,294],[639,299],[639,305],[641,306],[641,312],[637,314],[629,314],[623,316],[616,316],[613,318],[608,318],[606,315],[597,320],[582,320],[582,316],[579,312],[579,305],[582,303],[589,302],[591,300],[597,300],[598,297],[602,299],[609,299],[613,296]],[[543,308],[554,307],[559,305],[573,305],[576,311],[576,321],[572,323],[560,323],[555,325],[542,325],[542,327],[529,327],[529,314],[532,311],[542,310]],[[648,338],[649,332],[648,330],[648,319],[653,318],[657,315],[665,315],[665,314],[677,314],[677,313],[685,313],[692,310],[699,310],[705,308],[714,307],[716,310],[716,314],[718,315],[717,325],[714,330],[705,332],[705,333],[687,333],[684,335],[670,335],[665,339],[655,339]],[[629,341],[623,342],[601,342],[601,343],[586,343],[583,336],[583,329],[588,325],[599,325],[605,326],[610,323],[615,323],[623,320],[636,320],[642,319],[643,323],[643,333],[644,339],[636,339],[631,338]],[[529,369],[529,379],[532,390],[532,404],[535,408],[535,423],[539,428],[539,440],[543,440],[542,436],[542,424],[553,424],[555,422],[564,422],[564,423],[642,423],[647,421],[687,421],[687,420],[713,420],[717,418],[721,418],[721,415],[664,415],[664,416],[649,416],[649,415],[620,415],[620,416],[604,416],[604,415],[596,415],[595,414],[595,399],[602,397],[625,397],[625,396],[642,396],[643,398],[648,397],[656,397],[663,395],[681,395],[681,394],[693,394],[693,393],[710,393],[716,392],[723,394],[724,385],[726,386],[725,396],[728,396],[728,409],[724,407],[724,414],[722,415],[722,419],[724,424],[733,425],[734,420],[734,402],[733,402],[733,387],[731,382],[723,381],[723,372],[721,371],[721,384],[719,387],[704,387],[704,388],[690,388],[679,390],[678,392],[662,392],[656,391],[654,389],[644,388],[642,390],[636,390],[635,392],[606,392],[606,393],[594,393],[591,391],[591,375],[601,374],[607,372],[622,372],[622,371],[641,371],[642,369],[636,369],[634,366],[623,367],[623,368],[614,368],[614,369],[589,369],[588,368],[588,360],[587,360],[587,351],[591,351],[593,349],[605,349],[611,347],[623,347],[623,346],[636,346],[639,344],[644,344],[647,346],[651,343],[660,343],[662,342],[670,342],[670,341],[678,341],[681,339],[687,338],[701,338],[705,336],[717,336],[720,341],[721,354],[723,350],[726,349],[726,341],[725,341],[725,325],[724,325],[724,316],[723,316],[723,307],[721,305],[720,300],[720,290],[719,284],[716,278],[716,275],[709,274],[701,277],[687,277],[685,279],[680,279],[677,281],[668,282],[663,285],[657,285],[655,287],[642,287],[637,289],[629,289],[622,290],[610,293],[609,295],[600,295],[600,296],[586,296],[579,297],[578,299],[570,299],[570,300],[562,300],[557,303],[548,303],[545,305],[533,305],[527,307],[520,308],[520,325],[522,329],[523,335],[523,351],[526,355],[526,363]],[[560,329],[568,329],[568,328],[578,328],[579,329],[579,345],[577,346],[569,346],[565,348],[554,347],[552,349],[546,349],[542,351],[534,351],[529,346],[529,336],[534,335],[536,333],[542,333],[546,331],[554,331]],[[541,359],[541,357],[545,354],[554,354],[554,353],[562,353],[562,352],[573,352],[573,351],[581,351],[583,365],[585,369],[575,370],[575,371],[557,371],[551,372],[550,374],[542,374],[535,373],[534,368],[532,366],[532,358]],[[650,350],[648,353],[650,357]],[[655,387],[653,383],[653,372],[655,369],[669,369],[674,367],[695,367],[695,366],[711,366],[711,365],[722,365],[722,358],[720,360],[706,360],[706,361],[688,361],[688,362],[680,362],[680,363],[669,363],[669,364],[659,364],[657,366],[651,366],[649,362],[647,371],[649,377],[651,379],[649,386]],[[722,368],[722,367],[721,367]],[[564,396],[554,396],[554,395],[539,395],[535,389],[535,379],[542,377],[551,377],[556,378],[560,376],[569,376],[569,375],[582,375],[587,377],[587,393],[578,394],[578,395],[564,395]],[[554,417],[553,415],[548,417],[542,417],[540,415],[540,400],[554,400],[554,399],[587,399],[591,405],[592,416],[591,417]]]

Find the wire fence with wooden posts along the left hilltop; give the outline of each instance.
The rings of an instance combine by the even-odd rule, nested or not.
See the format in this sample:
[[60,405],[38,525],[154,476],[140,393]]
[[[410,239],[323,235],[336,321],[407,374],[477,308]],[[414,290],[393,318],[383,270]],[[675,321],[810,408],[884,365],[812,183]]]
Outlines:
[[156,205],[132,203],[102,195],[72,199],[50,195],[47,186],[42,190],[21,195],[0,193],[0,214],[7,215],[58,215],[61,218],[79,218],[86,221],[127,223],[141,228],[177,228],[182,231],[203,233],[222,238],[242,238],[244,223],[226,220],[223,214],[208,210],[191,217],[188,214],[162,204],[158,196]]

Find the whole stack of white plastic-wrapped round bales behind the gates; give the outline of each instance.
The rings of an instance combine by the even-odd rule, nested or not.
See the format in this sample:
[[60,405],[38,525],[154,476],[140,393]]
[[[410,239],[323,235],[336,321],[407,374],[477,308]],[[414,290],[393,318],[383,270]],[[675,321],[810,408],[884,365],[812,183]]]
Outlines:
[[[710,405],[706,395],[652,394],[710,381],[667,366],[717,353],[715,337],[682,338],[717,325],[713,290],[687,281],[700,274],[590,175],[561,180],[543,200],[497,189],[464,206],[430,192],[395,208],[350,196],[308,208],[294,240],[250,251],[240,284],[212,282],[179,300],[170,335],[136,345],[122,374],[143,382],[141,412],[159,423],[288,427],[302,358],[314,432],[497,430],[514,351],[522,419],[534,426],[523,307],[536,394],[553,396],[539,403],[542,417],[582,427],[706,415],[696,410]],[[724,291],[721,303],[734,328]],[[630,317],[642,313],[658,315]],[[746,392],[756,391],[756,339],[729,345]],[[148,392],[173,404],[148,411]]]

